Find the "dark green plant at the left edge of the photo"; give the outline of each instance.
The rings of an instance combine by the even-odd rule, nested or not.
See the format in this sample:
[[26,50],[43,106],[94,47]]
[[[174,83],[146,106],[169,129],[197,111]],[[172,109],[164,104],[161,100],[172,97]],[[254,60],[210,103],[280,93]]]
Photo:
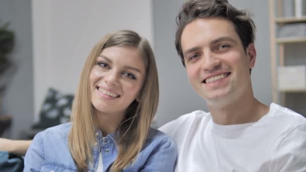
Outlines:
[[8,29],[6,23],[0,27],[0,76],[11,66],[9,54],[14,48],[14,32]]

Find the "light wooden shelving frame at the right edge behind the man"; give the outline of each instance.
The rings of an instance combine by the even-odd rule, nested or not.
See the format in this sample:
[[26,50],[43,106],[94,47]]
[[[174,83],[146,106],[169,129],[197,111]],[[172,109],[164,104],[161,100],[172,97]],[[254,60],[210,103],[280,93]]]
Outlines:
[[[274,9],[276,10],[276,13]],[[278,77],[277,69],[278,66],[285,66],[285,46],[287,46],[288,44],[306,43],[306,36],[278,38],[276,36],[277,35],[276,33],[278,32],[279,27],[282,27],[284,25],[296,24],[296,23],[306,24],[306,16],[300,18],[284,17],[283,0],[269,0],[269,15],[270,15],[272,98],[273,102],[285,106],[287,93],[305,93],[306,95],[306,88],[298,90],[279,90],[277,82],[277,77]],[[306,64],[306,59],[304,64]]]

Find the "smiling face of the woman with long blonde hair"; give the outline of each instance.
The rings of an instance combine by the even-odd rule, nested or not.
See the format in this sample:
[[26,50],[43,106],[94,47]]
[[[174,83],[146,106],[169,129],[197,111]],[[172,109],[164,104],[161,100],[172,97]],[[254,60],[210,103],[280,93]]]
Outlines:
[[139,97],[144,77],[144,62],[136,48],[103,49],[89,78],[92,105],[101,113],[123,115]]

